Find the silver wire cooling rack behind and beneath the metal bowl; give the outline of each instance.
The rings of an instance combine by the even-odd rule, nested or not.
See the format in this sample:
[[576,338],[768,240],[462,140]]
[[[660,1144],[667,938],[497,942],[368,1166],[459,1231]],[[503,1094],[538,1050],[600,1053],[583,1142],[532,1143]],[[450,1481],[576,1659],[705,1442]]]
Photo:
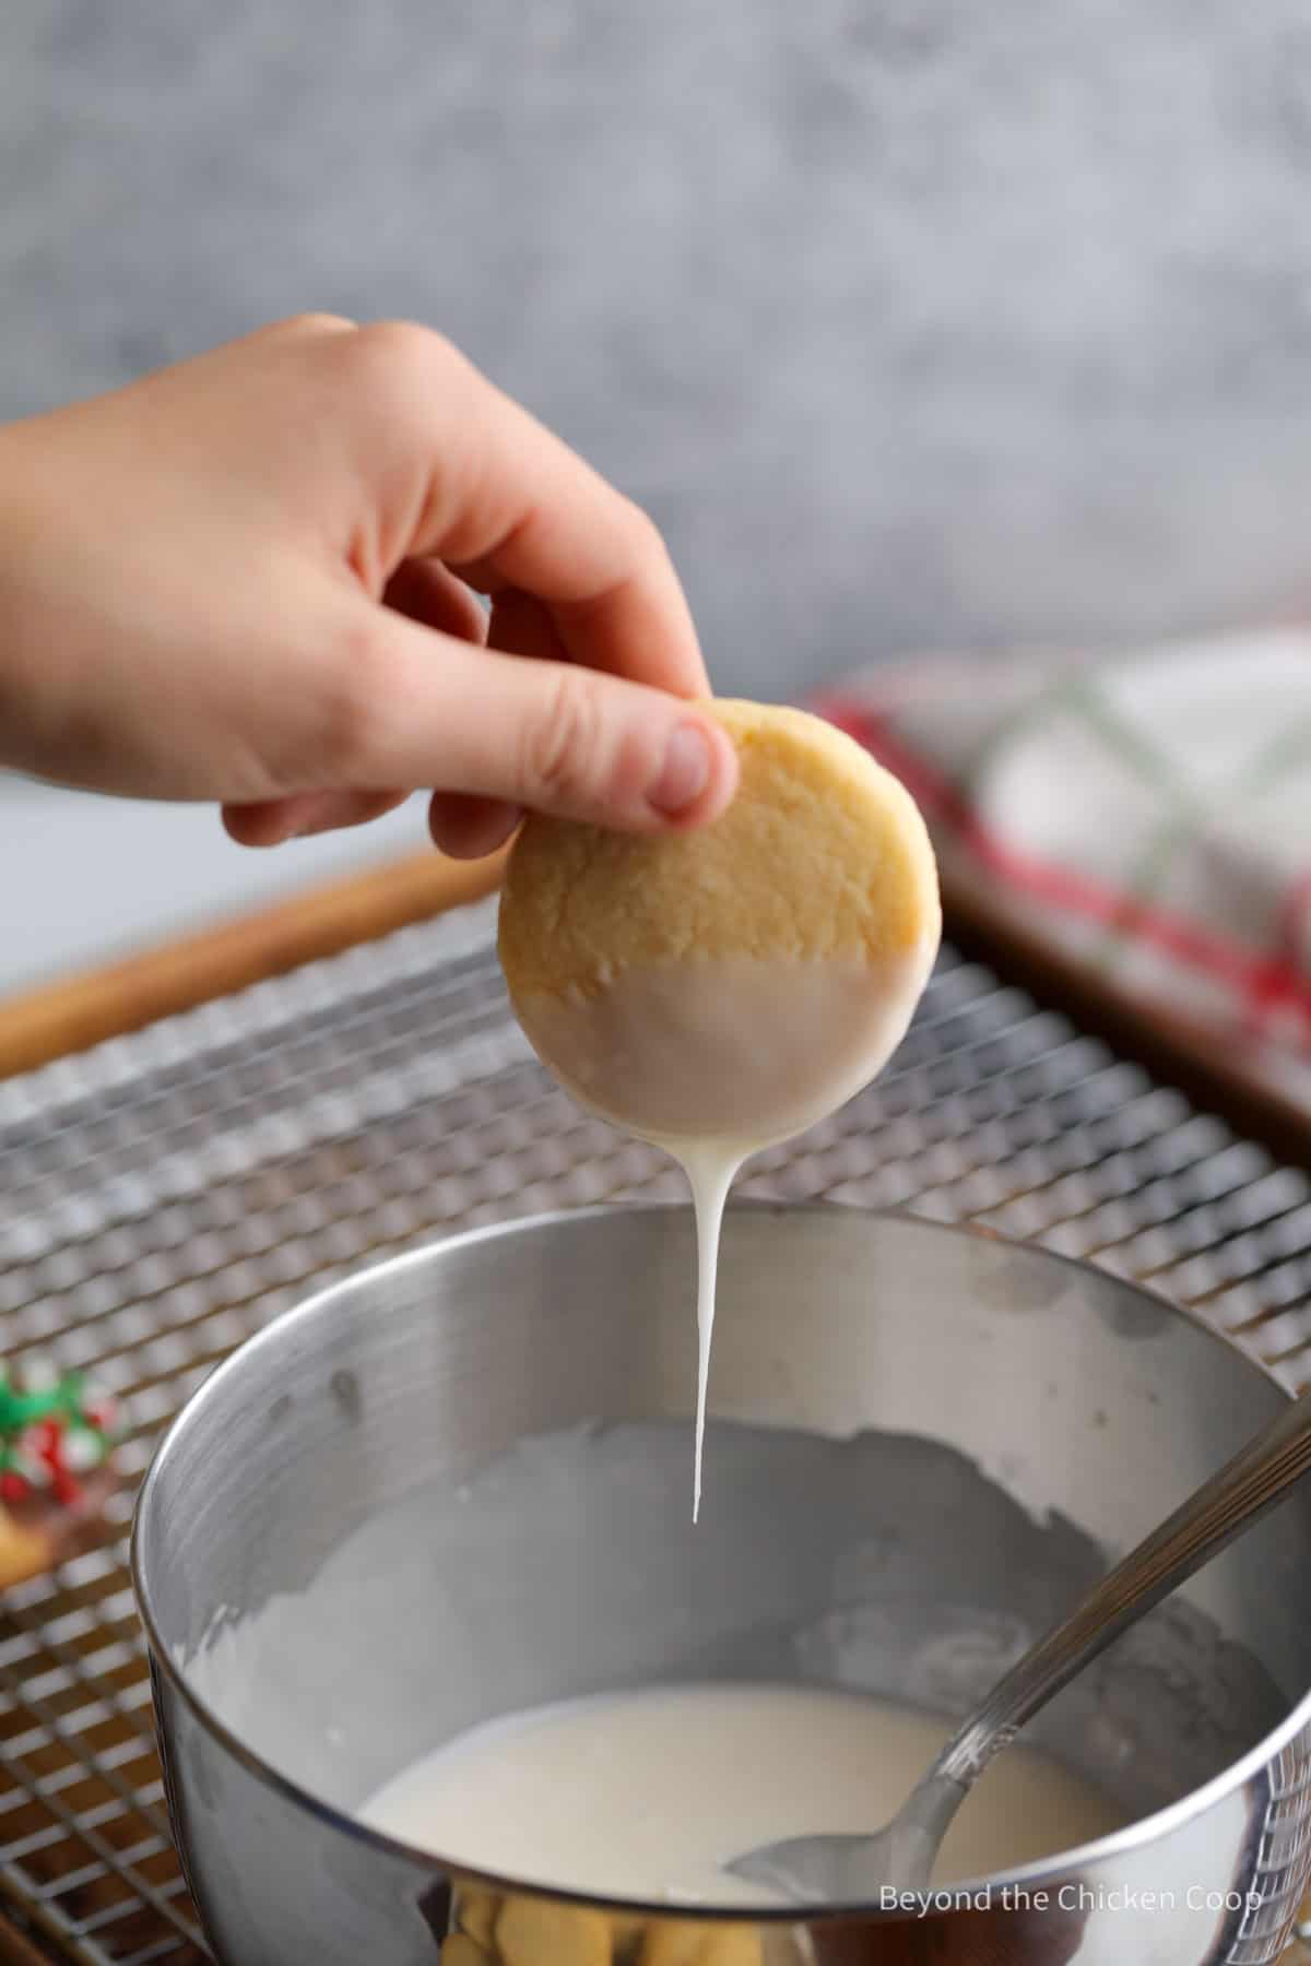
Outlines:
[[[1197,1305],[1291,1386],[1311,1376],[1307,1172],[951,950],[884,1077],[739,1191],[1034,1237]],[[0,1909],[31,1946],[10,1956],[208,1958],[169,1844],[126,1532],[159,1429],[210,1366],[373,1252],[678,1193],[535,1064],[487,908],[0,1083],[0,1351],[94,1370],[130,1476],[102,1545],[0,1610]]]

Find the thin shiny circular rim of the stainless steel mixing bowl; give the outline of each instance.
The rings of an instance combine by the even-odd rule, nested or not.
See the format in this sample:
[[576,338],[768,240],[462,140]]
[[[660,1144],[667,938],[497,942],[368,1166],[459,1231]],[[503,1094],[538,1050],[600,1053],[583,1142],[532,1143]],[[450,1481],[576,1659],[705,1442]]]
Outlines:
[[[145,1575],[143,1559],[143,1537],[145,1537],[145,1518],[155,1506],[153,1498],[159,1484],[165,1478],[169,1455],[177,1451],[177,1441],[185,1429],[193,1423],[193,1416],[214,1400],[222,1398],[222,1388],[228,1376],[238,1370],[238,1360],[246,1359],[252,1349],[259,1349],[265,1343],[273,1343],[275,1335],[283,1337],[289,1325],[309,1323],[313,1317],[320,1315],[326,1305],[338,1298],[356,1290],[366,1278],[377,1274],[395,1274],[407,1268],[419,1268],[423,1262],[430,1260],[436,1250],[472,1248],[480,1243],[505,1241],[509,1237],[529,1235],[541,1229],[552,1229],[562,1223],[592,1221],[598,1217],[611,1219],[615,1215],[656,1215],[656,1213],[684,1213],[690,1215],[690,1203],[686,1201],[623,1201],[623,1203],[594,1203],[576,1209],[546,1209],[533,1215],[511,1217],[509,1221],[485,1223],[478,1229],[458,1231],[454,1235],[436,1235],[415,1248],[401,1250],[395,1256],[385,1256],[379,1260],[368,1260],[360,1268],[350,1270],[346,1276],[334,1278],[330,1284],[313,1290],[299,1303],[289,1305],[279,1311],[252,1337],[244,1339],[234,1351],[222,1359],[214,1370],[197,1386],[189,1400],[183,1402],[179,1412],[169,1421],[163,1431],[155,1453],[151,1455],[149,1467],[138,1488],[136,1504],[132,1510],[132,1537],[130,1537],[130,1573],[132,1573],[132,1592],[136,1598],[138,1616],[145,1630],[145,1640],[149,1648],[151,1665],[151,1695],[155,1695],[153,1675],[167,1681],[169,1691],[189,1708],[191,1716],[202,1728],[210,1740],[222,1748],[248,1775],[259,1781],[263,1787],[271,1789],[275,1795],[293,1807],[305,1811],[318,1822],[328,1824],[336,1832],[364,1844],[366,1848],[377,1850],[381,1856],[391,1860],[401,1860],[411,1868],[423,1870],[432,1878],[444,1878],[458,1883],[474,1883],[487,1891],[513,1897],[541,1897],[562,1905],[578,1905],[584,1909],[613,1911],[621,1915],[637,1915],[647,1919],[682,1919],[696,1921],[704,1925],[723,1923],[741,1925],[743,1921],[753,1921],[759,1925],[796,1925],[798,1919],[806,1925],[820,1925],[829,1921],[896,1921],[906,1919],[916,1913],[908,1913],[904,1907],[884,1907],[871,1901],[853,1899],[841,1905],[778,1905],[778,1903],[735,1903],[735,1905],[674,1905],[668,1901],[647,1901],[639,1897],[615,1897],[603,1891],[580,1891],[562,1885],[542,1883],[529,1878],[509,1878],[501,1872],[480,1870],[468,1862],[452,1862],[438,1856],[432,1850],[425,1850],[417,1844],[409,1844],[399,1836],[389,1836],[385,1830],[377,1830],[368,1822],[362,1822],[348,1809],[340,1809],[336,1803],[326,1803],[316,1797],[311,1789],[303,1787],[291,1775],[279,1773],[269,1762],[263,1760],[254,1748],[250,1748],[240,1734],[236,1734],[210,1706],[206,1699],[191,1683],[187,1667],[179,1665],[171,1655],[169,1646],[163,1642],[157,1618],[151,1606],[151,1587]],[[1270,1370],[1260,1359],[1246,1353],[1234,1339],[1221,1331],[1219,1327],[1207,1323],[1195,1309],[1183,1303],[1175,1303],[1164,1292],[1154,1290],[1148,1284],[1132,1282],[1130,1278],[1116,1276],[1112,1270],[1101,1270],[1097,1264],[1087,1262],[1081,1256],[1065,1256],[1061,1250],[1046,1248],[1040,1243],[1028,1243],[1014,1237],[997,1235],[991,1229],[981,1229],[971,1223],[940,1223],[932,1217],[916,1215],[910,1209],[861,1209],[841,1201],[761,1201],[743,1199],[733,1203],[725,1213],[731,1215],[843,1215],[861,1217],[867,1221],[896,1221],[908,1223],[922,1229],[934,1237],[955,1237],[961,1241],[987,1243],[997,1246],[998,1243],[1012,1250],[1024,1250],[1026,1256],[1034,1256],[1044,1266],[1061,1266],[1077,1270],[1079,1274],[1091,1272],[1101,1282],[1114,1284],[1116,1288],[1128,1292],[1128,1296],[1144,1298],[1164,1309],[1171,1311],[1175,1317],[1189,1323],[1195,1331],[1201,1331],[1211,1339],[1221,1351],[1232,1353],[1242,1364],[1264,1378],[1274,1392],[1283,1400],[1291,1402],[1293,1394]],[[1146,1532],[1144,1532],[1146,1533]],[[155,1712],[157,1730],[163,1736],[161,1716]],[[1205,1815],[1213,1805],[1223,1803],[1226,1797],[1234,1795],[1248,1781],[1262,1775],[1274,1758],[1287,1746],[1287,1742],[1311,1724],[1311,1687],[1301,1695],[1301,1699],[1291,1706],[1285,1718],[1272,1728],[1254,1748],[1248,1748],[1244,1756],[1223,1767],[1217,1775],[1205,1781],[1197,1789],[1189,1789],[1179,1801],[1158,1809],[1148,1817],[1134,1819],[1124,1824],[1124,1828],[1112,1830],[1109,1836],[1099,1836],[1093,1842],[1077,1844],[1071,1850],[1059,1850],[1050,1858],[1038,1858],[1030,1864],[1018,1864],[1004,1872],[987,1874],[983,1878],[961,1878],[940,1887],[943,1895],[957,1899],[961,1903],[973,1893],[1000,1893],[1004,1889],[1016,1891],[1040,1891],[1048,1883],[1059,1879],[1071,1879],[1077,1872],[1087,1870],[1091,1864],[1105,1864],[1120,1856],[1144,1850],[1148,1844],[1169,1836],[1173,1830]],[[161,1760],[165,1762],[167,1777],[167,1754],[161,1746]],[[181,1850],[179,1856],[187,1864],[187,1854]],[[936,1899],[936,1887],[928,1887],[926,1893],[914,1893]],[[932,1909],[938,1909],[936,1905]],[[941,1909],[951,1909],[943,1905]]]

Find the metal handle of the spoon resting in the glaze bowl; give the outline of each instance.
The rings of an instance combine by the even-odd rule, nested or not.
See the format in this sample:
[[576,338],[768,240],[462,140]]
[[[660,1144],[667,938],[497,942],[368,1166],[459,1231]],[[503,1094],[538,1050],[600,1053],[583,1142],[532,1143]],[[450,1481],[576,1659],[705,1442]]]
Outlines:
[[1109,1571],[1077,1612],[998,1679],[941,1750],[934,1777],[969,1789],[1024,1722],[1120,1632],[1274,1508],[1311,1469],[1311,1392],[1285,1406],[1219,1474]]

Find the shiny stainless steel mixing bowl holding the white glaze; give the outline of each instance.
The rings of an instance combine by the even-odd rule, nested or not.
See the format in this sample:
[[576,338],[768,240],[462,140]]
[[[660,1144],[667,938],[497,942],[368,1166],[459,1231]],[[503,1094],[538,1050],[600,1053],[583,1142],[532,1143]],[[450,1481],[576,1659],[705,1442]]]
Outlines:
[[690,1927],[454,1878],[352,1821],[458,1730],[598,1689],[792,1679],[963,1712],[1283,1398],[1057,1256],[735,1209],[694,1530],[692,1274],[684,1209],[460,1237],[281,1317],[185,1410],[134,1565],[224,1966],[1274,1960],[1311,1864],[1301,1492],[1036,1724],[1134,1826],[949,1903]]

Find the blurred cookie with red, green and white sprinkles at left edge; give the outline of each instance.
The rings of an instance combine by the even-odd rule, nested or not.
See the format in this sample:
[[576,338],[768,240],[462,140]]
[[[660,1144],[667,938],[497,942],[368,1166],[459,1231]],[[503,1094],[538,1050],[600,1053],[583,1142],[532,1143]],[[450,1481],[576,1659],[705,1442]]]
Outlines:
[[108,1400],[81,1372],[0,1364],[0,1589],[94,1543],[116,1486]]

